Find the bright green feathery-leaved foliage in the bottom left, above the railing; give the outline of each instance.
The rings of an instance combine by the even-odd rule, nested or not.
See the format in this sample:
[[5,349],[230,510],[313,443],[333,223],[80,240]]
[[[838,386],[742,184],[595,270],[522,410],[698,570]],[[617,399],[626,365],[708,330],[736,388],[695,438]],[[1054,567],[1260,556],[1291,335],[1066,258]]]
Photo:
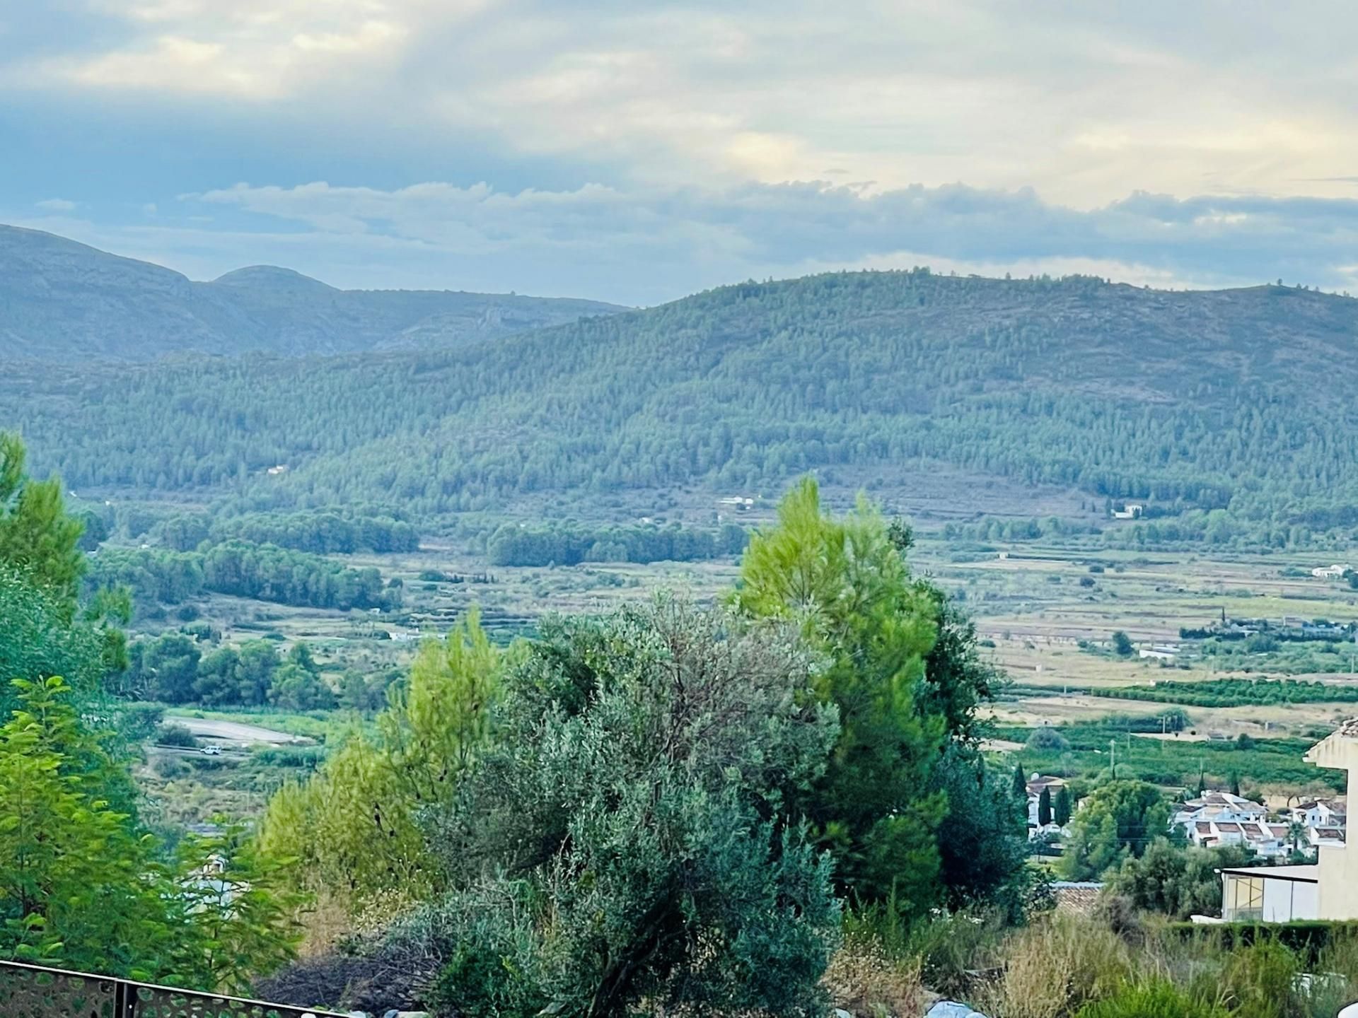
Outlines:
[[[239,989],[292,957],[295,900],[239,827],[166,866],[122,798],[124,764],[60,677],[15,680],[0,728],[0,956]],[[212,874],[206,870],[210,869]]]

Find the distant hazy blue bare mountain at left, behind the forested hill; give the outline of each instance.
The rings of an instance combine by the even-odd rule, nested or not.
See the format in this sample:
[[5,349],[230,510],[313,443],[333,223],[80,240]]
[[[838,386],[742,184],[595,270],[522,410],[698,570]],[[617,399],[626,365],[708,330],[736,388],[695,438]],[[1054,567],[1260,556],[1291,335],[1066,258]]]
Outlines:
[[49,361],[168,353],[285,356],[440,346],[608,315],[592,300],[340,290],[251,266],[194,282],[35,229],[0,225],[0,354]]

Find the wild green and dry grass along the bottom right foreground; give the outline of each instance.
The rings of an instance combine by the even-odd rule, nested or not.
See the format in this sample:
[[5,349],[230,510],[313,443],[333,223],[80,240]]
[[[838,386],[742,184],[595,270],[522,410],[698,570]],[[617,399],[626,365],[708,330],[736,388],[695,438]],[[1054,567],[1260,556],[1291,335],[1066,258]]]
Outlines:
[[[880,985],[881,972],[899,980],[887,985],[913,987],[919,973],[923,987],[944,989],[930,979],[940,953],[967,973],[944,992],[990,1018],[1332,1018],[1358,996],[1358,937],[1347,928],[1319,950],[1294,951],[1267,928],[1249,945],[1210,931],[1186,939],[1161,918],[1115,908],[1095,916],[1039,913],[1009,930],[975,920],[938,916],[895,947],[889,938],[873,947],[850,923],[850,954],[832,966],[837,1006],[864,1017],[921,1014],[877,1007],[870,995],[851,991]],[[959,923],[972,932],[956,938]],[[877,998],[884,1002],[885,992]]]

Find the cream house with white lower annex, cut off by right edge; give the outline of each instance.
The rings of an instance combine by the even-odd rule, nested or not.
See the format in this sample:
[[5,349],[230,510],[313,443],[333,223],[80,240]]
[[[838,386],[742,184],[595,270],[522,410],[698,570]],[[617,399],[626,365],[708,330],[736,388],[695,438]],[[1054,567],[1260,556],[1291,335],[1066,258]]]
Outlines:
[[[1313,745],[1306,760],[1348,771],[1351,799],[1358,793],[1358,718]],[[1358,919],[1358,851],[1336,837],[1323,839],[1315,866],[1247,866],[1222,870],[1221,880],[1226,922]]]

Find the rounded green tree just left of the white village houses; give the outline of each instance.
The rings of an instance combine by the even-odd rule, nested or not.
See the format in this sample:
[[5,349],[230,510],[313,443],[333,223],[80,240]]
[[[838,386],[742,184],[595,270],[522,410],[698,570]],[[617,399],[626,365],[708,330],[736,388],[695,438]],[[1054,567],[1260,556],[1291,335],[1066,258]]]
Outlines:
[[1100,877],[1128,855],[1139,858],[1168,821],[1169,805],[1156,786],[1111,780],[1071,817],[1061,870],[1069,880]]

